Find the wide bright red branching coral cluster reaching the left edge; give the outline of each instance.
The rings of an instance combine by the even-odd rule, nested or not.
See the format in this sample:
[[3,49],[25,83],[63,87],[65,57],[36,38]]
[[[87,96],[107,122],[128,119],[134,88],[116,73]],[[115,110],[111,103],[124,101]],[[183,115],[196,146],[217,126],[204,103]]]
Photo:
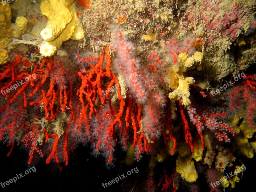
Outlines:
[[[21,56],[17,55],[11,65],[4,66],[6,69],[4,72],[0,73],[0,80],[4,78],[8,78],[10,80],[9,82],[1,85],[1,93],[3,92],[2,95],[5,96],[5,91],[10,92],[10,90],[12,91],[15,89],[15,91],[10,92],[9,95],[6,94],[6,97],[8,96],[7,103],[12,103],[20,94],[22,94],[24,98],[24,107],[27,107],[27,94],[28,98],[31,98],[40,90],[42,93],[41,96],[36,101],[30,102],[29,105],[39,106],[44,102],[45,119],[51,122],[51,120],[60,113],[61,110],[65,112],[69,98],[66,89],[67,86],[70,85],[70,81],[68,83],[67,77],[72,77],[72,75],[68,72],[62,62],[54,58],[43,58],[39,68],[36,62],[32,72],[30,72],[29,69],[21,72],[19,69],[21,66],[27,65],[27,62],[27,59],[21,59]],[[51,78],[50,88],[46,91],[44,84],[49,78]],[[58,87],[56,91],[54,90],[55,85]],[[32,89],[33,91],[31,91]],[[57,101],[60,101],[60,107],[57,106],[56,112],[54,113],[54,106],[56,106],[55,103]],[[72,109],[72,107],[70,108]],[[2,110],[3,107],[0,111]],[[48,112],[50,112],[49,117]]]

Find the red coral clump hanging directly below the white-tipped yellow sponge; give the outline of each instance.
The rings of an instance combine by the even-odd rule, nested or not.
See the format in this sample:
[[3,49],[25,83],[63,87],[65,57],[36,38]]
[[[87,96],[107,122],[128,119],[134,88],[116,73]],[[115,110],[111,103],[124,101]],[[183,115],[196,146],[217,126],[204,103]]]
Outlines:
[[[43,69],[43,66],[46,64],[46,69]],[[36,67],[35,67],[36,68]],[[44,103],[44,112],[45,112],[45,119],[51,120],[56,117],[60,111],[65,112],[65,108],[68,104],[69,95],[72,95],[72,91],[70,90],[69,95],[67,92],[68,85],[72,84],[71,78],[72,74],[68,72],[67,68],[63,65],[60,60],[55,60],[54,58],[46,59],[44,58],[41,62],[40,68],[35,70],[36,76],[39,79],[42,79],[41,82],[37,83],[36,88],[34,91],[28,95],[31,97],[34,95],[41,87],[41,96],[36,101],[30,102],[30,106],[36,105],[39,106],[41,103]],[[42,72],[44,74],[42,74]],[[44,83],[47,78],[50,78],[50,87],[46,92],[44,90]],[[54,88],[57,86],[57,90]],[[72,98],[70,98],[72,100]],[[60,107],[57,106],[56,112],[54,113],[54,105],[55,102],[60,102]],[[69,102],[70,104],[70,102]],[[73,107],[69,106],[72,110]],[[50,116],[48,117],[48,112]]]

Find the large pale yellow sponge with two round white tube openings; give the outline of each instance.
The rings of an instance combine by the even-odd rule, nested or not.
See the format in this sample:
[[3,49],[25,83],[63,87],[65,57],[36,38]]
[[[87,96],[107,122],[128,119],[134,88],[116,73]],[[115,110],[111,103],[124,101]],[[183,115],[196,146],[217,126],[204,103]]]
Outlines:
[[52,56],[68,39],[81,40],[84,30],[76,16],[74,0],[45,0],[41,12],[49,21],[40,35],[44,42],[40,47],[43,56]]

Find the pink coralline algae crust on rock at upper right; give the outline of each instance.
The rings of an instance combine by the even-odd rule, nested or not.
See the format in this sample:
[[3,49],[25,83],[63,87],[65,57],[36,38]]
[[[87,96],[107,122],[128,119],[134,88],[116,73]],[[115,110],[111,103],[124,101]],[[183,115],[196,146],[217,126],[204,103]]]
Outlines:
[[[209,45],[217,38],[228,37],[233,42],[246,28],[247,18],[253,17],[247,4],[239,4],[235,1],[196,1],[189,4],[185,13],[185,22],[182,27],[190,26],[195,30],[202,28],[207,35],[205,45]],[[248,23],[249,25],[250,23]],[[208,31],[211,33],[208,33]],[[198,34],[200,36],[200,34]]]

